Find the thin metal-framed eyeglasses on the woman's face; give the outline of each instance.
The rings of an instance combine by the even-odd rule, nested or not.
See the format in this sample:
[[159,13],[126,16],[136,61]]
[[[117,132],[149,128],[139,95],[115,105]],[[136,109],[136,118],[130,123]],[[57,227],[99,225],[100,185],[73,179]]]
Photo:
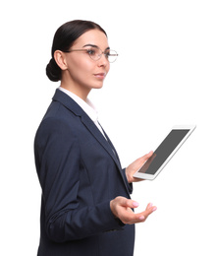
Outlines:
[[72,50],[67,50],[65,52],[72,52],[72,51],[84,51],[94,61],[99,60],[101,58],[102,54],[104,54],[106,59],[110,63],[115,62],[119,55],[115,50],[106,49],[105,51],[102,51],[98,46],[95,46],[95,47],[92,46],[88,49],[72,49]]

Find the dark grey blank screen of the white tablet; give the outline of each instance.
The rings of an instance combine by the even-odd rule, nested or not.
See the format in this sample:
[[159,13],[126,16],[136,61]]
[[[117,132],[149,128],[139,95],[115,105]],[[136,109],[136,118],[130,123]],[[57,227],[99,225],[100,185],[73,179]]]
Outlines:
[[172,130],[138,172],[155,174],[189,132],[190,129]]

